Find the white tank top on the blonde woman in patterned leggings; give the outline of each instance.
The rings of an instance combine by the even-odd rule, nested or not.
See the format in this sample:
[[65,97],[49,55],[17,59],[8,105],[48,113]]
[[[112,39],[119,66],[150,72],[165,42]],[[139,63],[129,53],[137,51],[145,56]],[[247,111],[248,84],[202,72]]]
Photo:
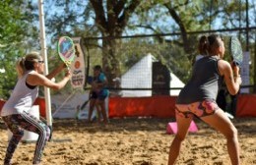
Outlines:
[[26,84],[27,77],[32,72],[34,71],[28,71],[18,83],[16,83],[10,98],[2,108],[1,116],[21,114],[24,111],[28,112],[32,108],[32,104],[38,94],[38,86],[31,89]]

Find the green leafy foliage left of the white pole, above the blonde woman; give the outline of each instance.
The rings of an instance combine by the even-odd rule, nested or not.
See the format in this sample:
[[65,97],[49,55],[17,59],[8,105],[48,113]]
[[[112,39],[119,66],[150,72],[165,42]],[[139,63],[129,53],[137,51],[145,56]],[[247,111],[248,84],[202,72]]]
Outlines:
[[[37,28],[32,25],[31,1],[2,0],[0,3],[0,98],[8,98],[17,81],[15,63],[36,47]],[[33,47],[34,46],[34,47]]]

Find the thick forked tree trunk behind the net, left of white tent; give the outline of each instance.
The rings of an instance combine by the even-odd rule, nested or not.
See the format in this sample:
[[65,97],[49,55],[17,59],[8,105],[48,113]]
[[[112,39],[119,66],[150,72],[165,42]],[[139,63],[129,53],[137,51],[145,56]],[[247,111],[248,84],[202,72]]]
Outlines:
[[112,87],[114,86],[113,79],[121,76],[117,52],[120,41],[114,36],[121,36],[131,14],[134,13],[141,1],[107,0],[105,5],[102,0],[90,0],[90,2],[96,13],[96,27],[102,36],[108,36],[102,40],[102,68],[108,80],[108,86]]

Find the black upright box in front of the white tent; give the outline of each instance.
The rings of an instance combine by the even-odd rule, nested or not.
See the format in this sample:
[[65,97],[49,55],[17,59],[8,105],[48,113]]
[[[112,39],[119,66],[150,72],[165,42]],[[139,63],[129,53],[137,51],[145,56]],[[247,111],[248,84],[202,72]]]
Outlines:
[[152,95],[169,95],[169,70],[160,62],[153,62],[152,69]]

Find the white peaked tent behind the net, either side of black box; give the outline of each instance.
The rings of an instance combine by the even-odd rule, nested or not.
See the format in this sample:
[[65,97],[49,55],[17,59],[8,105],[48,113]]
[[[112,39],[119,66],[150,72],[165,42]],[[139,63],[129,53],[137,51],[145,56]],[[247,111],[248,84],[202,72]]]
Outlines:
[[[152,88],[153,62],[158,60],[148,54],[121,77],[122,88]],[[170,87],[183,87],[174,74],[170,73]],[[180,89],[171,89],[170,95],[178,95]],[[152,90],[122,90],[122,96],[152,96]]]

